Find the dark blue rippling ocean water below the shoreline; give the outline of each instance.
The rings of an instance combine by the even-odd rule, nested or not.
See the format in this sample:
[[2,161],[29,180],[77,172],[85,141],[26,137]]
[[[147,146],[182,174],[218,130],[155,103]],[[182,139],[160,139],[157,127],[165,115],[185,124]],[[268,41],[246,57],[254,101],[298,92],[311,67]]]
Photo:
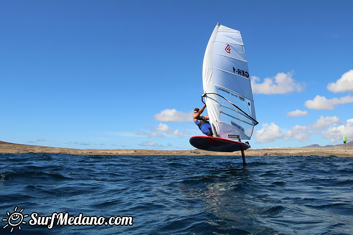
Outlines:
[[352,157],[246,160],[0,154],[0,234],[353,234]]

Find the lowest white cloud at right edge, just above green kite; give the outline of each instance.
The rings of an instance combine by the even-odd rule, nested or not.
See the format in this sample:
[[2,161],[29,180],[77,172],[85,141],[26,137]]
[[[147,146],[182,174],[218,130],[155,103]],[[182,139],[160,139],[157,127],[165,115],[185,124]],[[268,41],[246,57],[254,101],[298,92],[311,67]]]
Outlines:
[[342,141],[343,136],[347,136],[348,142],[349,140],[352,141],[353,140],[353,118],[348,119],[346,124],[330,127],[327,130],[322,131],[321,134],[324,138],[331,139],[331,143],[334,143],[336,141]]

